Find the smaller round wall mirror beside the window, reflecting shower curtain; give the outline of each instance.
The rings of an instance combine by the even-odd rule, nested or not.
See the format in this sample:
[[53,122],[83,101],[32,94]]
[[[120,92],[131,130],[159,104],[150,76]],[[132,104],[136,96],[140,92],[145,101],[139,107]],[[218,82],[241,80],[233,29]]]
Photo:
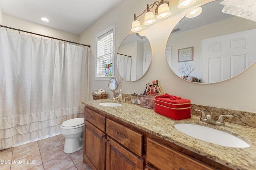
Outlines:
[[120,76],[129,82],[139,80],[147,72],[151,56],[151,46],[146,37],[138,33],[128,35],[116,56]]

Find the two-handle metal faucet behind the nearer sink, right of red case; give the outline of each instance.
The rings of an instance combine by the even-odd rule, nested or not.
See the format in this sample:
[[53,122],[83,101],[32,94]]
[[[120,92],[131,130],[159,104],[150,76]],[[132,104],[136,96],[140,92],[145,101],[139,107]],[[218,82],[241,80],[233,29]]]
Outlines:
[[200,111],[202,113],[200,117],[200,121],[212,124],[212,125],[219,125],[219,126],[225,126],[223,117],[234,117],[233,115],[220,115],[218,120],[215,121],[212,117],[212,111],[210,111],[211,114],[205,115],[203,111],[195,109],[196,111]]

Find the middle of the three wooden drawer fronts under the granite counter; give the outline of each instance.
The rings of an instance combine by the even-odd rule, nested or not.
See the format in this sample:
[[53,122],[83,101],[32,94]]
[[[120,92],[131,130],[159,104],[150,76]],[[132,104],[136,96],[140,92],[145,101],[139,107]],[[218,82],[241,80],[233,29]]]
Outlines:
[[142,157],[143,134],[132,131],[110,119],[106,119],[106,133],[124,147]]

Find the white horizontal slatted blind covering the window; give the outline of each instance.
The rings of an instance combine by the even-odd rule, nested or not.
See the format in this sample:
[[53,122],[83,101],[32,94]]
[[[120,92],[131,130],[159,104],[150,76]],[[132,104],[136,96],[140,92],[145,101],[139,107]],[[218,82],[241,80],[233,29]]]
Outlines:
[[105,76],[106,64],[113,63],[113,42],[113,29],[97,38],[97,77]]

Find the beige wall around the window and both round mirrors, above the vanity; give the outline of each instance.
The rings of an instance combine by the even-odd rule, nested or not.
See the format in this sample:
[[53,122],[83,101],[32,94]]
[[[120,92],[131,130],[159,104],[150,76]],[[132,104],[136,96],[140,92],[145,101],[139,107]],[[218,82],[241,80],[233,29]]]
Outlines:
[[[91,45],[90,56],[90,92],[95,89],[108,89],[108,81],[96,81],[96,34],[106,29],[112,24],[116,26],[116,46],[117,50],[123,39],[132,32],[131,24],[133,14],[139,15],[145,8],[146,4],[151,4],[155,0],[123,0],[111,12],[100,18],[96,23],[87,28],[80,35],[80,43]],[[203,2],[212,0],[198,0],[194,7],[200,6]],[[132,94],[133,92],[142,93],[145,84],[152,80],[159,80],[162,90],[182,98],[188,98],[193,104],[206,106],[222,107],[228,109],[237,109],[242,111],[256,112],[256,63],[246,71],[229,80],[214,84],[195,84],[182,80],[172,70],[166,62],[166,43],[175,24],[192,10],[190,7],[185,10],[177,9],[178,0],[170,0],[170,10],[172,16],[157,20],[153,25],[142,25],[144,28],[141,33],[146,35],[152,47],[152,61],[146,75],[135,82],[120,83],[123,93]],[[140,17],[139,20],[143,20]],[[142,22],[141,22],[142,23]],[[119,79],[116,68],[114,69],[116,78]],[[112,92],[108,91],[111,95]],[[92,96],[90,95],[92,100]]]

